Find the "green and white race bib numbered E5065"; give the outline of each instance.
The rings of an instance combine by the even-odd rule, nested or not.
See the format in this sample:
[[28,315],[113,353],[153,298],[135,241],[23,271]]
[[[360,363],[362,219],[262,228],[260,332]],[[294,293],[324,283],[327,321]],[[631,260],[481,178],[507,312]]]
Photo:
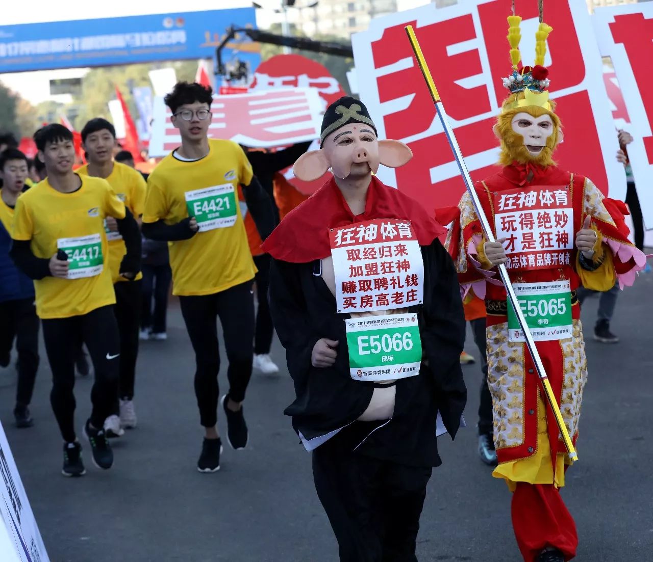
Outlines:
[[[569,281],[515,283],[513,289],[536,342],[571,338]],[[511,342],[526,341],[512,306],[508,306],[508,333]]]

